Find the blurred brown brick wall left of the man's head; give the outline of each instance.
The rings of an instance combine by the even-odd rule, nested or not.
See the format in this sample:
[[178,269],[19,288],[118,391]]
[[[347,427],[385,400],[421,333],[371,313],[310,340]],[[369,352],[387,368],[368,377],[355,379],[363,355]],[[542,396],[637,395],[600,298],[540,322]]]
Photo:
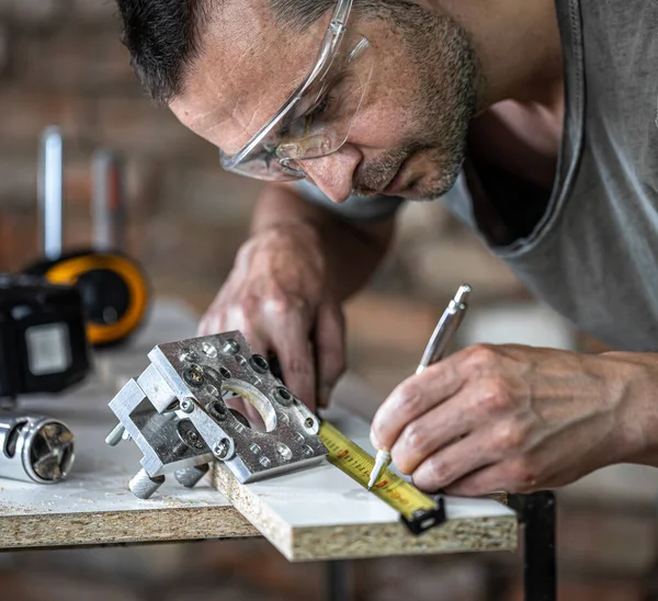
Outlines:
[[106,0],[0,0],[0,269],[37,252],[38,137],[65,138],[66,245],[90,242],[90,160],[124,154],[129,251],[172,281],[219,281],[258,184],[223,173],[216,150],[137,87]]

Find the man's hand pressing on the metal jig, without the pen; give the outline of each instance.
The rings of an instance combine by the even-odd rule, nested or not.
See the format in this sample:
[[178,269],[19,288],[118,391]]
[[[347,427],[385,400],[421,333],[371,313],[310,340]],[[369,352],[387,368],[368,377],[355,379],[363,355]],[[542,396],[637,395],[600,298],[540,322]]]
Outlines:
[[254,352],[276,355],[295,396],[325,407],[345,366],[343,315],[328,282],[315,228],[260,230],[238,251],[197,333],[240,330]]

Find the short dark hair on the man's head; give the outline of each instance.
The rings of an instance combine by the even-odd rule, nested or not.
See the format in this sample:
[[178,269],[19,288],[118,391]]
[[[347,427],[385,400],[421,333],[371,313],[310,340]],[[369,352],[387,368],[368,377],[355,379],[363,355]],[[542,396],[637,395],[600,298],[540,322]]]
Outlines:
[[[304,30],[336,0],[268,0],[277,22]],[[185,71],[200,52],[200,37],[219,0],[116,0],[123,43],[139,83],[166,104],[183,90]]]

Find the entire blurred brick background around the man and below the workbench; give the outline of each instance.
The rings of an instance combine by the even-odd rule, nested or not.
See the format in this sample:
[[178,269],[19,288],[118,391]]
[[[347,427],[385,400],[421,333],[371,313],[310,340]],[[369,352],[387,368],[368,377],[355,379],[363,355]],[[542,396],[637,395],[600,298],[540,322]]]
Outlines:
[[[135,83],[106,0],[0,0],[0,271],[37,257],[37,147],[58,125],[65,150],[65,248],[91,242],[91,157],[127,168],[128,248],[158,297],[203,311],[245,240],[258,182],[155,107]],[[474,287],[460,344],[602,347],[533,302],[439,203],[408,206],[375,279],[347,307],[351,371],[384,398],[415,371],[457,286]],[[362,407],[372,415],[375,407]],[[561,601],[650,597],[655,470],[604,470],[559,494]],[[518,554],[376,559],[353,566],[359,599],[520,600]],[[0,600],[322,598],[325,566],[290,565],[262,541],[0,553]],[[367,593],[366,593],[367,591]]]

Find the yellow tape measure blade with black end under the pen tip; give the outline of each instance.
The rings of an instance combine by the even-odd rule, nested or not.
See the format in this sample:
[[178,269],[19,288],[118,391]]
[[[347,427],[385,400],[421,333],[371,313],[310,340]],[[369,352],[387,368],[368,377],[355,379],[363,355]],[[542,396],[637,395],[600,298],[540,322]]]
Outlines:
[[[320,424],[320,440],[329,451],[327,460],[355,483],[367,489],[374,457],[331,426]],[[420,534],[445,522],[442,496],[429,497],[390,469],[382,473],[371,492],[400,514],[400,521],[412,534]]]

